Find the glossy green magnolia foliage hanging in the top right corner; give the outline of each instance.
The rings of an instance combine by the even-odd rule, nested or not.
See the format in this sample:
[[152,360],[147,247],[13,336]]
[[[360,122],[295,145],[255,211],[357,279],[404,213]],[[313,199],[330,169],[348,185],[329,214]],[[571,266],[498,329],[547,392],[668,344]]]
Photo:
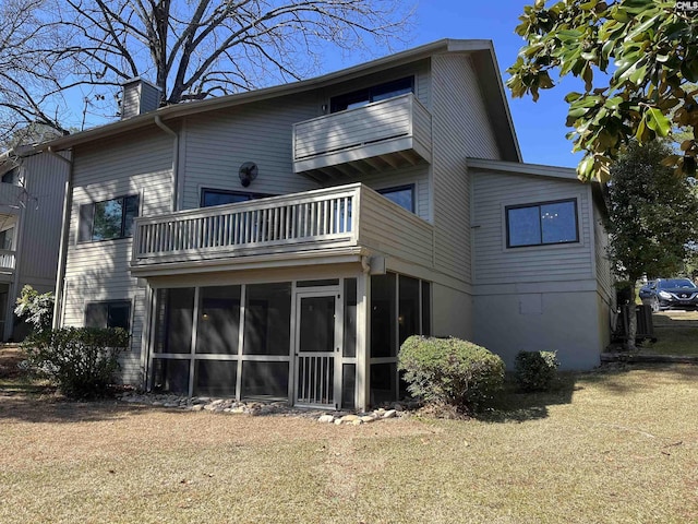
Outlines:
[[[690,130],[683,156],[669,163],[693,174],[698,156],[698,13],[674,0],[564,0],[525,8],[516,33],[527,44],[507,71],[512,95],[552,88],[551,73],[571,74],[583,93],[569,93],[567,138],[585,156],[582,180],[606,180],[612,163],[630,140],[667,136],[672,127]],[[695,3],[695,2],[693,2]]]

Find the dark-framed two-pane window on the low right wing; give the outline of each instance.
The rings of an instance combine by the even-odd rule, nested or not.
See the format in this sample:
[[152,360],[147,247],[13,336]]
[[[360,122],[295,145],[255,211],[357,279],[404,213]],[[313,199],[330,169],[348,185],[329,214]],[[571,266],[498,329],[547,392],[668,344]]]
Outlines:
[[577,199],[510,205],[505,210],[507,248],[579,241]]

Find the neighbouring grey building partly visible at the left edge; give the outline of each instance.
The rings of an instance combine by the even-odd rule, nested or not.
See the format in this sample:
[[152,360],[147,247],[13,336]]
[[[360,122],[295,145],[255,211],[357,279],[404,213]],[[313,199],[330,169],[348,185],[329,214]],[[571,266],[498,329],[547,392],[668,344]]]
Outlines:
[[25,285],[56,286],[68,155],[23,146],[0,155],[0,338],[22,341],[28,327],[14,315]]

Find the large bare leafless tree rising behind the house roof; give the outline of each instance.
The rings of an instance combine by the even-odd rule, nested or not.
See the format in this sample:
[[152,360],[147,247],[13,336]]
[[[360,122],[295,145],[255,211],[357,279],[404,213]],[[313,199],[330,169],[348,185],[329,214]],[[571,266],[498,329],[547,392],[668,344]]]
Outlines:
[[[34,60],[70,71],[48,92],[38,86],[34,99],[80,86],[85,111],[110,115],[129,79],[152,81],[161,105],[299,80],[316,72],[326,44],[352,52],[389,47],[408,34],[411,14],[399,0],[3,1],[35,8],[22,23],[27,37],[10,47],[28,47]],[[45,34],[60,39],[35,41]],[[34,121],[24,102],[14,112]]]

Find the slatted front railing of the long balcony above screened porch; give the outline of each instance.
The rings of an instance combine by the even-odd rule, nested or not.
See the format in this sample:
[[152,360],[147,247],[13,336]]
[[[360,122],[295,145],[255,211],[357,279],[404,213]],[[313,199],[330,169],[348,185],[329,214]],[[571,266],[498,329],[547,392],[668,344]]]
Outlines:
[[[133,263],[354,242],[361,184],[135,219]],[[353,216],[352,216],[353,214]]]

